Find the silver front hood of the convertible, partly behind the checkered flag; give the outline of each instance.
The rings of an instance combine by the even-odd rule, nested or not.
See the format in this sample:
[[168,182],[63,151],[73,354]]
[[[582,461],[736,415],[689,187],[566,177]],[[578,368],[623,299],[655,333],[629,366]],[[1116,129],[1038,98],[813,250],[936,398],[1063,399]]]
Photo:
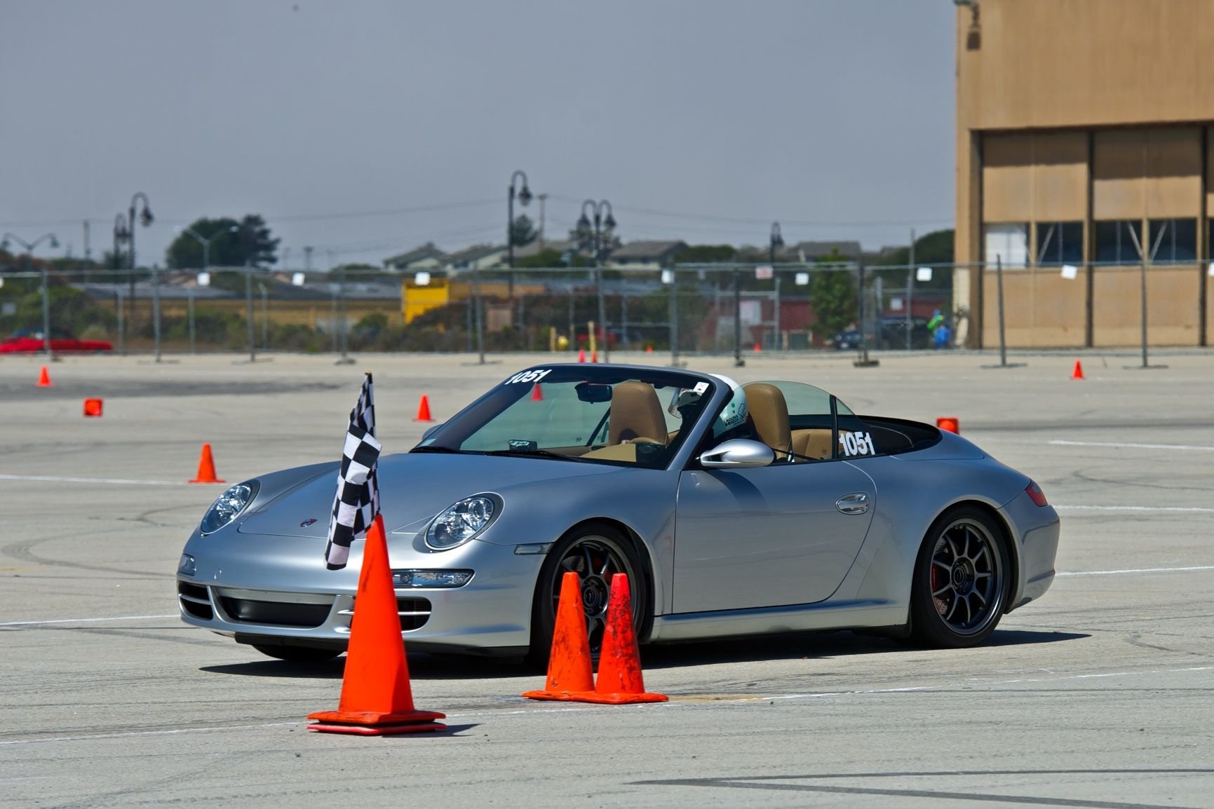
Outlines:
[[[399,454],[380,458],[380,511],[390,532],[414,534],[452,503],[492,491],[510,500],[520,486],[626,472],[626,467],[555,458]],[[249,514],[242,534],[327,537],[337,465]],[[308,520],[316,520],[308,523]]]

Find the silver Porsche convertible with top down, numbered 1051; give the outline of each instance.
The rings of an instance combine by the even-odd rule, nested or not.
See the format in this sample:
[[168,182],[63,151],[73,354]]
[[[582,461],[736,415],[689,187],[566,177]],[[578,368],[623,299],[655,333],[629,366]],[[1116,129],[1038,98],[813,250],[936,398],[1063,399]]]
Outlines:
[[[363,543],[325,569],[336,477],[223,492],[181,557],[182,619],[283,660],[341,654]],[[543,659],[571,570],[592,648],[617,572],[648,643],[847,628],[970,646],[1049,588],[1059,541],[1040,488],[959,435],[677,369],[521,371],[384,456],[379,482],[410,650]]]

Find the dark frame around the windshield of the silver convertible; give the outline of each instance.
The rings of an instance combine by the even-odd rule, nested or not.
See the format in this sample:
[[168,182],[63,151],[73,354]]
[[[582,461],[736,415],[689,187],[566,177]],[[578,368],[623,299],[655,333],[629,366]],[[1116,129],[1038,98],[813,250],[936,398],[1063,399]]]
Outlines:
[[[584,458],[580,456],[571,456],[568,461],[574,461],[579,463],[592,463],[596,466],[609,466],[615,468],[630,468],[630,469],[681,469],[686,463],[686,457],[688,452],[694,449],[704,431],[710,426],[711,418],[710,414],[715,412],[725,398],[724,392],[728,392],[730,387],[725,384],[719,377],[714,377],[709,374],[700,374],[698,371],[688,371],[686,369],[668,368],[660,365],[617,365],[617,364],[586,364],[586,363],[552,363],[546,365],[532,365],[531,368],[522,369],[516,374],[511,374],[501,382],[498,382],[492,388],[486,391],[482,395],[477,397],[466,408],[456,412],[448,421],[442,425],[437,425],[431,429],[426,431],[422,440],[414,445],[414,449],[421,452],[426,451],[426,448],[435,446],[441,449],[447,449],[450,452],[459,455],[480,455],[489,457],[509,457],[509,454],[500,451],[481,451],[481,450],[463,450],[456,449],[460,444],[467,440],[476,431],[481,429],[484,425],[490,422],[493,418],[500,416],[507,408],[518,401],[522,394],[529,394],[532,391],[532,383],[520,384],[520,377],[524,375],[539,375],[543,372],[557,372],[563,371],[560,376],[566,376],[568,372],[573,372],[579,381],[585,380],[594,383],[609,383],[614,384],[623,382],[625,380],[640,380],[649,383],[660,383],[663,387],[669,387],[670,389],[686,389],[693,388],[700,383],[707,384],[703,393],[704,406],[696,418],[696,422],[691,426],[691,429],[686,427],[680,427],[679,435],[669,445],[668,457],[665,463],[660,466],[646,466],[642,463],[636,463],[631,461],[615,461],[609,458]],[[545,374],[546,376],[546,374]],[[543,384],[543,377],[539,380]],[[675,387],[677,386],[677,388]],[[517,387],[521,395],[515,399],[510,399],[505,406],[498,406],[501,397],[501,389],[504,387]],[[664,398],[665,393],[659,391],[659,398]],[[663,399],[662,405],[665,408],[665,400]],[[609,410],[609,405],[608,405]],[[446,434],[446,435],[444,435]],[[447,440],[444,440],[444,437]],[[535,455],[528,455],[527,452],[518,452],[518,457],[537,458]],[[544,458],[539,458],[544,460]],[[557,458],[551,458],[557,460]]]

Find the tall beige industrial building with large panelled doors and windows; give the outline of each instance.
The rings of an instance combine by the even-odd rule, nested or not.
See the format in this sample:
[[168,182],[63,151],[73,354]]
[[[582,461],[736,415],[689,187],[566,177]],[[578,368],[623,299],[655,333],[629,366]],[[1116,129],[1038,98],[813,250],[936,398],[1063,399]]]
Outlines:
[[1214,0],[957,0],[958,337],[998,260],[1009,346],[1136,346],[1141,246],[1150,342],[1208,344],[1212,127]]

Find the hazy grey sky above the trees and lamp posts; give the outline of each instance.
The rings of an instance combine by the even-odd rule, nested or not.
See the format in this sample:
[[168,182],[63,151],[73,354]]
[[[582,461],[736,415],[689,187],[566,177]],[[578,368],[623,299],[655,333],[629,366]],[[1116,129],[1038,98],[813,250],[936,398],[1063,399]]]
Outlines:
[[[146,192],[175,224],[262,213],[290,263],[548,235],[904,244],[952,227],[948,0],[0,0],[0,230],[95,257]],[[430,209],[430,210],[424,210]],[[535,203],[517,209],[538,218]],[[62,255],[39,250],[39,255]]]

